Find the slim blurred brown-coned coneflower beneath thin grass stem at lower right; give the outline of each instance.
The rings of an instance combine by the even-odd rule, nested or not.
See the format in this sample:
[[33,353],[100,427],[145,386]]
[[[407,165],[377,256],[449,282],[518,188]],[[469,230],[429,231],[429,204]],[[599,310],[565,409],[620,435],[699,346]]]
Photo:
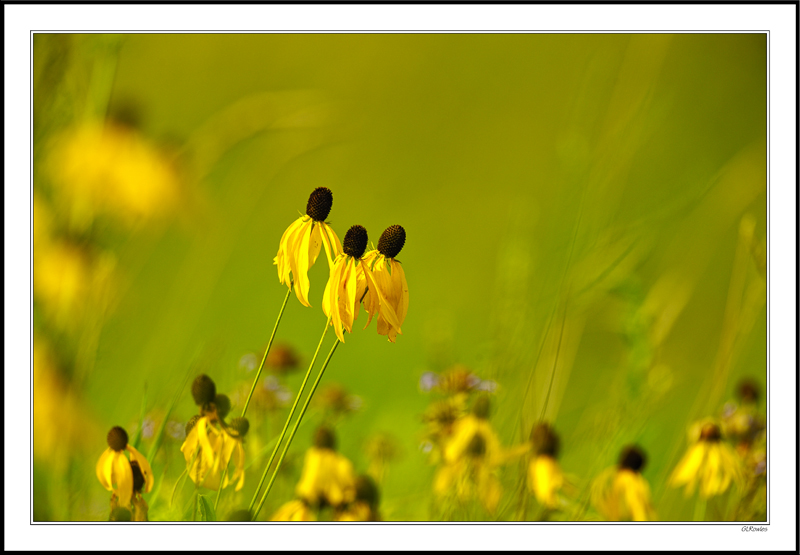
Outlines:
[[539,503],[549,509],[556,509],[561,504],[558,492],[564,485],[564,474],[556,461],[558,436],[543,422],[531,430],[531,443],[535,455],[528,466],[528,487]]

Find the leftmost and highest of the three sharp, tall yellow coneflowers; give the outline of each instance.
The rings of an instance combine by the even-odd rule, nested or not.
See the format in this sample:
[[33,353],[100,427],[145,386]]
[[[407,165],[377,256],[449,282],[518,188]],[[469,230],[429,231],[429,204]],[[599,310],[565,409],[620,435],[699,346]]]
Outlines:
[[304,306],[308,302],[308,270],[317,261],[320,247],[325,247],[328,265],[332,268],[334,259],[342,252],[342,244],[325,218],[333,207],[333,193],[327,187],[317,187],[308,197],[306,213],[300,216],[283,232],[278,254],[274,264],[278,266],[278,279],[287,287],[292,287]]

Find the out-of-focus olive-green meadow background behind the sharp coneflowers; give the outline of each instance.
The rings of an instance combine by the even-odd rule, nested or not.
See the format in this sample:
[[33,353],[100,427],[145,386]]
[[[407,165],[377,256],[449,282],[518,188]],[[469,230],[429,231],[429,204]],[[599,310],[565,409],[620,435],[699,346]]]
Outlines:
[[[152,466],[150,520],[247,508],[325,326],[325,257],[216,511],[182,477],[189,389],[207,374],[241,412],[281,235],[320,186],[340,238],[405,228],[409,309],[394,344],[366,314],[346,334],[258,520],[323,423],[387,521],[625,519],[609,503],[641,482],[597,486],[621,468],[649,518],[765,519],[764,34],[36,34],[33,70],[35,520],[109,519],[113,426]],[[503,456],[448,466],[486,396]]]

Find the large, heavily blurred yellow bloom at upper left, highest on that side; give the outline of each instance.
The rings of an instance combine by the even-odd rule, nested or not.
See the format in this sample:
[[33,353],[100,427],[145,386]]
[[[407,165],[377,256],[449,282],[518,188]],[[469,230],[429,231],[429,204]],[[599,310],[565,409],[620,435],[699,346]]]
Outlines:
[[179,178],[170,160],[135,130],[114,123],[87,123],[60,136],[47,160],[48,173],[87,226],[109,212],[132,223],[170,211]]

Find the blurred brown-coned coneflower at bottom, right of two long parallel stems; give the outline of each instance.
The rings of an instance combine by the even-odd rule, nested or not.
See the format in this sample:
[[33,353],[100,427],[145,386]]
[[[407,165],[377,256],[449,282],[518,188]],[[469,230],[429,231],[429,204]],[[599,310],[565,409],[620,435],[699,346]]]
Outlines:
[[334,508],[355,498],[353,463],[336,452],[336,436],[329,428],[318,429],[314,446],[306,451],[295,493],[309,505]]

